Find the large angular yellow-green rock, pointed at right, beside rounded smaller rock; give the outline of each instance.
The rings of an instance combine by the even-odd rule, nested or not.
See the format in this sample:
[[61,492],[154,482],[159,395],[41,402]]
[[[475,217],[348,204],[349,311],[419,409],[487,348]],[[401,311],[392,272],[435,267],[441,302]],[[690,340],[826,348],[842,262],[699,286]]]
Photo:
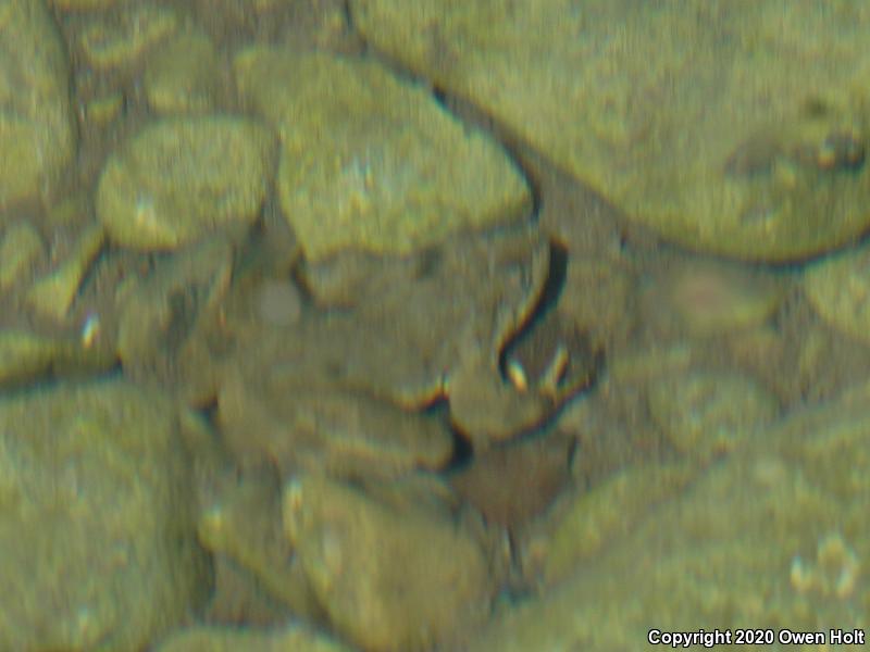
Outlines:
[[277,189],[310,260],[348,248],[409,253],[531,209],[495,142],[374,60],[256,48],[235,70],[243,96],[279,129]]

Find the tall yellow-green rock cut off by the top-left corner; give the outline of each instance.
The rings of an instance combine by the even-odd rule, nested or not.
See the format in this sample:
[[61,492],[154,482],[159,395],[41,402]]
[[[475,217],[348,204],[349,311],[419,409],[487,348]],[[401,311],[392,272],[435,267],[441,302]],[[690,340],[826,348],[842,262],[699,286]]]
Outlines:
[[0,208],[36,196],[72,158],[67,75],[41,0],[0,2]]

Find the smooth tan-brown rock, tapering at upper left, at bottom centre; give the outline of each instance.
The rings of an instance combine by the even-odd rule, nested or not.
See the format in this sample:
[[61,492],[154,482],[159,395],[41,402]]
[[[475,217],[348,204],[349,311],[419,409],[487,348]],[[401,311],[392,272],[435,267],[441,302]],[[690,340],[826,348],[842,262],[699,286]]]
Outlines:
[[284,524],[333,627],[364,650],[455,649],[488,613],[486,559],[451,522],[301,476],[285,489]]

